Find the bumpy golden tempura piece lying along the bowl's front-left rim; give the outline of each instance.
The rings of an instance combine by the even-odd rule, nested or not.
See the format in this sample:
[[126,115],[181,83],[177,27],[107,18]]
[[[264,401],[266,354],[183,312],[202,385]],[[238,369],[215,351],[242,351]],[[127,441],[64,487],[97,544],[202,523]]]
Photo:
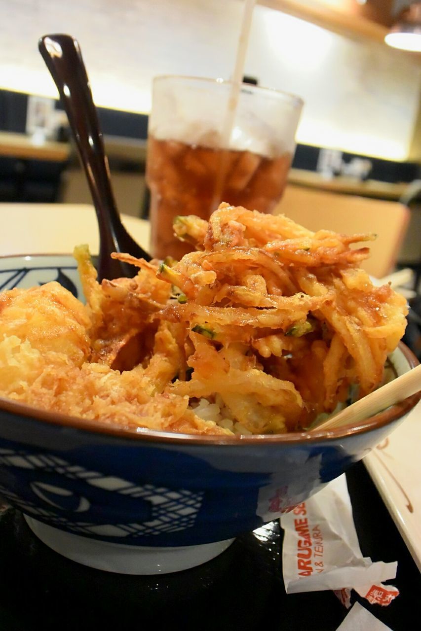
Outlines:
[[[10,375],[12,363],[13,377]],[[6,370],[6,365],[8,369]],[[226,434],[212,421],[188,410],[188,398],[156,394],[141,367],[120,373],[106,365],[70,366],[63,355],[42,355],[16,336],[0,342],[1,395],[35,408],[79,416],[122,428]]]

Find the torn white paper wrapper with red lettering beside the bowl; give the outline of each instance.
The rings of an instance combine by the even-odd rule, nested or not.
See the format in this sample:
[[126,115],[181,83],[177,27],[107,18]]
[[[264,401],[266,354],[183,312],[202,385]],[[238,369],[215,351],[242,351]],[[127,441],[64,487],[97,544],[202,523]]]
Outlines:
[[333,589],[350,606],[351,589],[370,603],[386,605],[398,596],[398,563],[363,557],[352,517],[345,475],[281,517],[285,531],[283,576],[287,594]]

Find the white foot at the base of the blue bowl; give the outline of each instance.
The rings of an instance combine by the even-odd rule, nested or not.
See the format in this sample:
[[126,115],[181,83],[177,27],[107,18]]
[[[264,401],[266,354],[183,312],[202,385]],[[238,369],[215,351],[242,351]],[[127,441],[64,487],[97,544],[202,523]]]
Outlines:
[[170,574],[180,572],[217,557],[233,539],[179,548],[130,546],[98,541],[58,528],[25,515],[32,532],[49,548],[76,563],[118,574]]

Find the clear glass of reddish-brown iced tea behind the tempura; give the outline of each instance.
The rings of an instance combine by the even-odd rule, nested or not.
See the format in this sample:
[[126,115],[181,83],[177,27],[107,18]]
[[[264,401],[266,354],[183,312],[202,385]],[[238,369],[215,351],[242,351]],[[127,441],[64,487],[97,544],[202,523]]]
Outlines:
[[192,249],[174,237],[175,216],[207,219],[222,201],[270,213],[281,198],[303,102],[243,84],[227,133],[232,94],[229,81],[183,76],[154,80],[147,183],[150,251],[159,259],[180,259]]

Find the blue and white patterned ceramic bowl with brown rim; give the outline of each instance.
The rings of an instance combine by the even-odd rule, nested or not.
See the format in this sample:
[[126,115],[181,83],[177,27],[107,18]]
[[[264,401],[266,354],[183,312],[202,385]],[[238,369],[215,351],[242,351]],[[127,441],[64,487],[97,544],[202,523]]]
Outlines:
[[[49,280],[82,298],[70,256],[0,259],[1,290]],[[417,363],[403,345],[391,359],[398,374]],[[175,572],[341,475],[419,398],[357,427],[243,439],[124,431],[3,399],[0,494],[68,558],[126,574]]]

